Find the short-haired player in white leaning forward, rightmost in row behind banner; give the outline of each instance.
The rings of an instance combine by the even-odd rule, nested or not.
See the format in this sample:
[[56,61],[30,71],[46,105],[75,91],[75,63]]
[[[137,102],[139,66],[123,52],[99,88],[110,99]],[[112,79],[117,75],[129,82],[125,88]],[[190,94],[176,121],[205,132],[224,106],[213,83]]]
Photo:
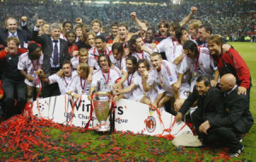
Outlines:
[[149,74],[145,72],[143,77],[148,78],[147,82],[143,82],[143,88],[148,91],[153,84],[158,84],[162,89],[166,90],[166,95],[160,99],[159,106],[163,107],[166,101],[170,101],[172,97],[177,98],[178,92],[174,91],[172,85],[177,82],[177,73],[169,61],[162,60],[160,53],[154,52],[151,57],[151,64],[154,67]]

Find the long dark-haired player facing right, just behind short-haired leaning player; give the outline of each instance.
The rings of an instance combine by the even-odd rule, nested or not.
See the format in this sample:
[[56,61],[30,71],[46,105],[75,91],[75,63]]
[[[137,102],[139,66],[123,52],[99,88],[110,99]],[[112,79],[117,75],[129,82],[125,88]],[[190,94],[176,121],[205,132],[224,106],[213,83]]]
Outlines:
[[144,43],[143,38],[140,35],[131,36],[129,42],[131,55],[137,58],[137,61],[142,59],[147,59],[150,62],[150,55],[152,54],[152,49],[148,49]]

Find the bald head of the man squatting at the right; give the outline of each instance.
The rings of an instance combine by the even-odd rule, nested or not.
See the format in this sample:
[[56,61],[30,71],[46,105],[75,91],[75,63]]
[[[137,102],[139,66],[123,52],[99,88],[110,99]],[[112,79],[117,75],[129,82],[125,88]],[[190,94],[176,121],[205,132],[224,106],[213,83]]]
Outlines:
[[219,87],[222,91],[230,91],[236,85],[236,77],[231,74],[225,74],[220,78]]

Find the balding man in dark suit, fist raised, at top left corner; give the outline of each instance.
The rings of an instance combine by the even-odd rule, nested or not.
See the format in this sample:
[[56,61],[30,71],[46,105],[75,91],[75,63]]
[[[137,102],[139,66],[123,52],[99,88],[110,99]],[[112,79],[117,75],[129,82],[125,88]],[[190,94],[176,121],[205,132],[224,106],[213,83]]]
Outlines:
[[19,38],[20,48],[26,48],[26,43],[31,40],[32,33],[29,32],[26,26],[26,16],[22,16],[22,30],[18,29],[17,20],[13,17],[9,17],[5,20],[5,29],[0,30],[0,49],[7,47],[6,39],[9,37]]

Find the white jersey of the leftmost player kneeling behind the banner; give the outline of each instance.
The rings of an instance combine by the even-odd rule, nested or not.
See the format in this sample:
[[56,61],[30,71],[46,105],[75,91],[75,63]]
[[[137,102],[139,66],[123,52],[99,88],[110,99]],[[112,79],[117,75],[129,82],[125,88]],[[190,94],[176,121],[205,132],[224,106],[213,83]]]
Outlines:
[[73,71],[70,77],[61,78],[55,73],[49,76],[49,84],[58,83],[61,95],[66,95],[66,93],[68,92],[67,90],[69,90],[72,79],[77,75],[78,73],[76,71]]

